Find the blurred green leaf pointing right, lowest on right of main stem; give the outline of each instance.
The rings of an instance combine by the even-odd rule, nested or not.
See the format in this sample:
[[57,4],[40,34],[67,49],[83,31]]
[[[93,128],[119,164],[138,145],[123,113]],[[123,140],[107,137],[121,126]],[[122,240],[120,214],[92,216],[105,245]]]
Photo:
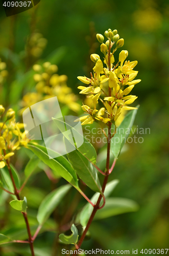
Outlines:
[[105,206],[96,212],[94,220],[105,219],[111,216],[137,211],[139,206],[136,202],[126,198],[108,198]]

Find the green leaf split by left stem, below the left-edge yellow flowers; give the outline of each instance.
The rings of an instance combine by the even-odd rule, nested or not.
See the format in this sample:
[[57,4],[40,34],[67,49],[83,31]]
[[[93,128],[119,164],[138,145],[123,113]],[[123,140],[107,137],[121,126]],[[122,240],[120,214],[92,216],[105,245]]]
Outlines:
[[[15,185],[17,188],[19,188],[19,175],[17,174],[16,169],[12,165],[10,165],[10,167],[11,167],[12,176],[15,181]],[[0,172],[1,172],[3,183],[11,193],[14,193],[14,188],[13,188],[11,177],[9,175],[8,167],[5,166],[4,168],[1,168]]]

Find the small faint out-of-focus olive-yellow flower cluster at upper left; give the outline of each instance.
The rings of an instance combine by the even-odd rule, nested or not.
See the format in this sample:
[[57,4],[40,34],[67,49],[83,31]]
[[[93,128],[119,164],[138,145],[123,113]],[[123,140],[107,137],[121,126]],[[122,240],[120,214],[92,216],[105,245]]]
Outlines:
[[34,32],[28,38],[26,50],[33,57],[38,58],[42,55],[44,48],[47,45],[47,39],[41,33]]

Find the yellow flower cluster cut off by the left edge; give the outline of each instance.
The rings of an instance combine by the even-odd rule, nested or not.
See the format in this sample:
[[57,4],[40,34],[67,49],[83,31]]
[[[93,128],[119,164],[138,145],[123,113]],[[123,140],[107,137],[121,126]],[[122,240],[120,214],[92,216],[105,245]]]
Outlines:
[[[0,117],[4,112],[3,105],[0,105]],[[0,122],[0,168],[6,165],[5,160],[13,156],[15,150],[18,150],[21,146],[27,146],[30,141],[27,139],[25,132],[20,132],[23,127],[23,123],[16,123],[13,109],[9,109],[5,121]]]

